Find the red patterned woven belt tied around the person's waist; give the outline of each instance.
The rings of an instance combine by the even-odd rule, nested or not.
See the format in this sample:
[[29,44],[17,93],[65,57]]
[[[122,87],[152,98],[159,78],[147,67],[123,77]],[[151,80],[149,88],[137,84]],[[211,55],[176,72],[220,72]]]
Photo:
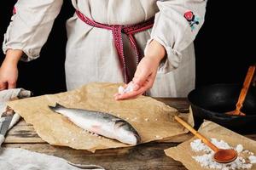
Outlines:
[[137,56],[137,64],[138,64],[139,61],[142,59],[142,55],[140,54],[139,49],[137,47],[137,42],[134,37],[134,34],[136,34],[137,32],[146,31],[149,28],[152,28],[152,26],[154,25],[154,18],[146,20],[137,25],[122,26],[122,25],[106,25],[106,24],[98,23],[94,20],[90,20],[84,14],[79,12],[79,10],[76,11],[76,14],[79,16],[80,20],[83,20],[84,23],[86,23],[90,26],[94,26],[97,28],[102,28],[102,29],[107,29],[107,30],[112,31],[113,42],[114,42],[115,48],[117,49],[117,53],[119,55],[119,62],[120,62],[121,70],[123,71],[125,83],[130,82],[132,77],[128,77],[128,71],[127,71],[127,67],[126,67],[125,55],[124,55],[124,50],[123,50],[123,40],[122,40],[121,34],[124,33],[125,35],[127,35],[129,37],[131,47],[135,50],[135,53]]

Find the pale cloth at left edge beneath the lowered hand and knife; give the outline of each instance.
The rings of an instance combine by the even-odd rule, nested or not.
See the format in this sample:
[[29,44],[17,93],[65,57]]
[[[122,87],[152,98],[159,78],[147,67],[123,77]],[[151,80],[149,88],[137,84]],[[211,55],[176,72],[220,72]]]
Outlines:
[[[6,102],[8,102],[10,99],[14,99],[15,97],[22,99],[27,98],[31,96],[31,92],[28,90],[24,90],[22,88],[13,88],[8,90],[2,90],[0,91],[0,118],[3,114],[3,112],[6,110]],[[1,118],[2,119],[2,118]],[[12,118],[12,121],[9,124],[9,129],[15,125],[16,122],[20,120],[20,115],[18,113],[15,113],[15,115]],[[0,146],[3,144],[4,136],[0,134]]]

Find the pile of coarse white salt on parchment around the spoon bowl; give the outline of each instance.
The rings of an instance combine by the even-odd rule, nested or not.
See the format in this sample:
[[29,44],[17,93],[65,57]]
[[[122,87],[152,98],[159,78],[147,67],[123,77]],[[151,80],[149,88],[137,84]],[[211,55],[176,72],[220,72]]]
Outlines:
[[[219,149],[231,149],[232,147],[224,142],[224,140],[211,139],[212,144],[215,144]],[[236,169],[250,169],[256,163],[256,156],[249,150],[243,150],[241,144],[237,144],[236,148],[238,156],[235,161],[230,163],[218,163],[212,160],[214,154],[206,144],[201,142],[201,139],[195,139],[190,143],[191,149],[195,152],[204,152],[201,156],[193,156],[195,161],[201,164],[201,167],[222,169],[222,170],[236,170]]]

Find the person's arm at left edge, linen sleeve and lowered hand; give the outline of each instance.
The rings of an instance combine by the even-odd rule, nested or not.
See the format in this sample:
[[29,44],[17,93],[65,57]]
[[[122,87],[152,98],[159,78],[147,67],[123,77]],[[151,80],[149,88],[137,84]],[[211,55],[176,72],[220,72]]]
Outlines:
[[61,10],[62,0],[19,0],[15,14],[4,34],[5,59],[0,67],[0,90],[15,88],[18,61],[39,57],[55,17]]

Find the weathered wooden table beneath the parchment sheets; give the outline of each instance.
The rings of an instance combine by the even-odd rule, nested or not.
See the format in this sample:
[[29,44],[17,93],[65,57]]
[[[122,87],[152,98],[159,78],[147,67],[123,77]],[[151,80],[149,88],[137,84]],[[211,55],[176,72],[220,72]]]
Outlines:
[[[177,108],[180,112],[189,112],[189,104],[186,99],[160,99],[158,100]],[[161,142],[140,144],[136,147],[96,150],[91,153],[87,150],[73,150],[69,147],[53,146],[47,144],[38,137],[31,124],[26,124],[24,120],[13,127],[3,144],[3,147],[23,148],[37,151],[48,155],[59,156],[67,161],[79,164],[96,164],[106,169],[121,170],[182,170],[183,165],[165,155],[164,150],[190,139],[192,135],[185,134],[174,139],[175,142]],[[248,138],[256,140],[256,134],[247,135]]]

